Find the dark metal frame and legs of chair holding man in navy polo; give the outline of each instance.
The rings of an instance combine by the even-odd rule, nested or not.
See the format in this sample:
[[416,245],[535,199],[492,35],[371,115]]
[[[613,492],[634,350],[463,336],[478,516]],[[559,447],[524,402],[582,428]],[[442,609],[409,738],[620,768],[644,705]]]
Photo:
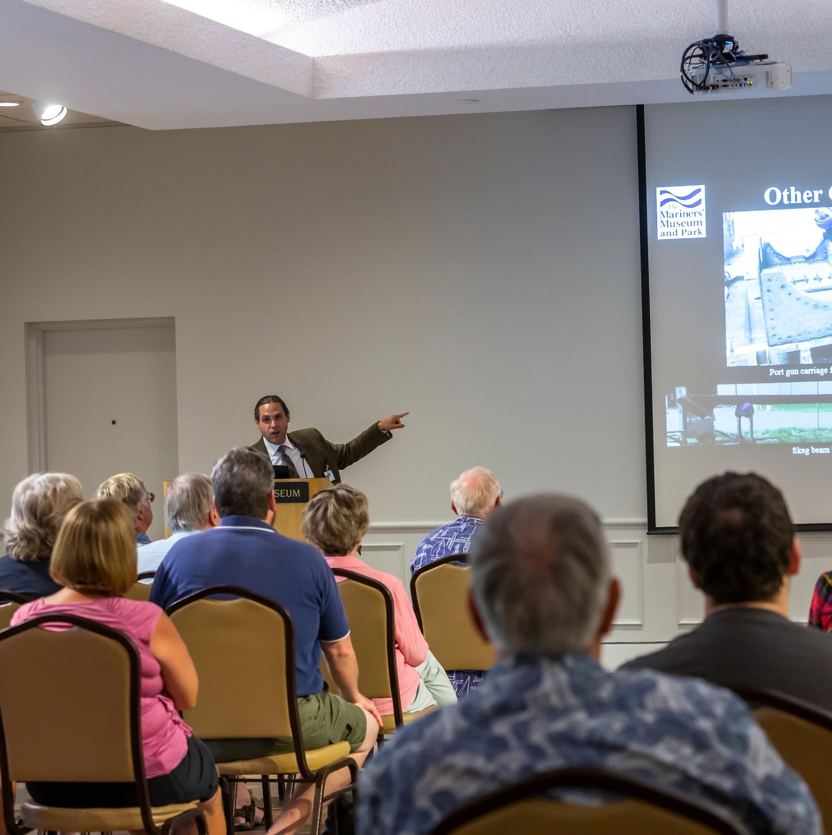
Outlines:
[[[183,597],[180,600],[176,600],[175,603],[173,603],[167,608],[166,613],[169,616],[173,615],[180,609],[184,609],[187,605],[195,603],[198,600],[205,600],[209,597],[216,597],[216,595],[229,595],[231,597],[245,598],[246,600],[251,600],[254,603],[258,603],[262,606],[265,606],[266,609],[271,609],[272,611],[276,612],[277,615],[280,615],[283,621],[284,637],[286,642],[284,650],[286,660],[284,674],[286,676],[287,681],[287,693],[297,694],[297,680],[295,673],[295,628],[292,624],[292,618],[290,617],[289,613],[279,603],[276,603],[274,600],[269,600],[266,597],[262,597],[261,595],[257,595],[255,592],[250,591],[248,589],[243,589],[241,588],[241,586],[216,585],[211,586],[208,589],[202,589],[200,591],[197,591],[192,595],[187,595],[186,597]],[[261,784],[263,787],[263,812],[265,817],[264,822],[266,824],[266,829],[271,827],[272,782],[276,782],[278,787],[281,787],[282,782],[285,782],[289,785],[290,791],[298,782],[311,782],[315,784],[315,800],[312,804],[312,832],[319,832],[321,829],[321,817],[324,804],[334,799],[335,797],[338,797],[344,792],[355,791],[356,784],[358,781],[358,766],[356,765],[356,762],[355,760],[353,760],[352,757],[342,757],[340,760],[335,760],[333,762],[328,763],[326,766],[319,768],[317,772],[312,772],[312,770],[310,770],[310,768],[307,765],[306,751],[303,746],[303,737],[301,734],[301,720],[297,711],[297,696],[294,699],[289,699],[287,709],[289,713],[289,725],[292,728],[292,743],[294,745],[294,753],[295,757],[297,758],[297,765],[300,768],[300,771],[297,772],[297,775],[299,775],[300,778],[298,778],[297,775],[280,775],[276,777],[276,779],[272,779],[269,775],[261,774]],[[329,777],[329,775],[333,772],[340,771],[342,768],[348,768],[350,772],[349,785],[337,790],[336,792],[331,792],[330,794],[325,795],[324,787],[326,785],[327,777]],[[237,783],[248,781],[246,781],[245,777],[232,777],[230,775],[226,775],[226,780],[231,782],[233,785],[230,792],[230,797],[228,798],[228,802],[226,803],[226,825],[228,827],[229,832],[234,832],[234,805],[236,801]],[[225,797],[223,798],[223,801],[226,802]],[[17,833],[15,833],[15,835],[17,835]]]

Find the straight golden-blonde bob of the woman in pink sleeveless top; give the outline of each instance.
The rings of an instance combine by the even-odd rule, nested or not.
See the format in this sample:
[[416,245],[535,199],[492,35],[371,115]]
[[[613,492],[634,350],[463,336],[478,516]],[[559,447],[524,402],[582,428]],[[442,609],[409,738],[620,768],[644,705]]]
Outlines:
[[129,509],[114,498],[76,505],[63,520],[49,574],[70,589],[124,595],[136,581]]

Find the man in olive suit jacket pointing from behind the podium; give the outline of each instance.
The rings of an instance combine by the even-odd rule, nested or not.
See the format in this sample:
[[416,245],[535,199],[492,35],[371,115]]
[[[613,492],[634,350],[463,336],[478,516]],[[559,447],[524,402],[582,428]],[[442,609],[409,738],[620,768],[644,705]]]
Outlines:
[[284,464],[290,478],[329,478],[341,481],[341,470],[373,452],[401,429],[402,418],[409,412],[388,415],[373,423],[348,443],[331,443],[317,429],[298,429],[287,433],[289,408],[282,397],[267,394],[256,402],[254,422],[261,438],[251,448],[264,453],[272,464]]

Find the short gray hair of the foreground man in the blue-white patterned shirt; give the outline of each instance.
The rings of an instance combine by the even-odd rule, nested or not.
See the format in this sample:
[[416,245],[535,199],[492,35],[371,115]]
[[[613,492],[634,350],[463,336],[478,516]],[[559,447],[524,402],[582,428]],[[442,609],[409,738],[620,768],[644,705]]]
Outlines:
[[472,539],[471,582],[485,630],[506,653],[587,650],[606,605],[601,519],[579,498],[541,493],[498,508]]

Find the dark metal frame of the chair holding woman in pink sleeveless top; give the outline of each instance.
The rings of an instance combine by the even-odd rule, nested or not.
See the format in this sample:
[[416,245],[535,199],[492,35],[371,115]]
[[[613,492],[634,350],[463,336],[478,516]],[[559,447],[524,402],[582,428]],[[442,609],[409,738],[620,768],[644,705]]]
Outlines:
[[[193,819],[200,835],[207,835],[208,828],[205,822],[205,815],[200,808],[189,809],[179,815],[170,817],[162,827],[157,827],[153,821],[150,804],[150,790],[147,785],[145,773],[145,753],[142,748],[141,736],[141,661],[139,650],[136,649],[133,641],[127,635],[118,630],[110,629],[109,626],[99,624],[95,620],[80,618],[77,615],[40,615],[32,620],[17,626],[10,626],[0,632],[0,641],[11,640],[28,630],[37,629],[44,624],[63,623],[74,626],[78,629],[93,632],[109,640],[114,640],[127,653],[130,667],[129,681],[129,725],[130,725],[130,753],[133,760],[133,772],[136,782],[136,793],[139,796],[139,808],[141,819],[145,824],[145,832],[150,835],[169,835],[169,833],[180,823]],[[56,695],[57,697],[57,695]],[[3,725],[3,706],[0,705],[0,787],[3,791],[3,817],[8,832],[13,835],[25,835],[32,830],[22,827],[14,818],[14,792],[12,781],[8,770],[8,751],[6,748],[6,731]]]

